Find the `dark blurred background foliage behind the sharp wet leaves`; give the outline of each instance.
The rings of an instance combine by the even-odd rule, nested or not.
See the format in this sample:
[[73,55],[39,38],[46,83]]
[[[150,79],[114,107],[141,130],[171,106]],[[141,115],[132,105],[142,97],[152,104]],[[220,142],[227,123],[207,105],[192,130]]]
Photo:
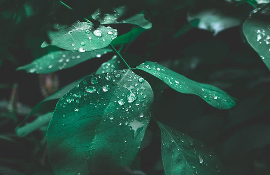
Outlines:
[[[47,31],[54,23],[83,21],[96,9],[102,13],[125,5],[125,17],[144,13],[152,28],[124,46],[123,57],[135,67],[156,61],[194,79],[216,85],[237,98],[230,110],[215,109],[197,96],[179,94],[159,79],[145,77],[155,92],[152,116],[212,147],[227,174],[269,174],[270,168],[270,76],[267,67],[248,45],[242,23],[264,1],[177,0],[177,1],[0,1],[0,173],[52,174],[46,156],[47,126],[18,137],[16,126],[31,109],[55,90],[95,72],[113,54],[49,75],[27,74],[16,68],[32,62],[55,47],[41,48],[49,41]],[[129,24],[112,24],[119,36]],[[46,77],[53,86],[46,87]],[[48,78],[49,77],[49,78]],[[165,90],[164,90],[165,87]],[[161,93],[163,92],[163,93]],[[31,115],[52,112],[56,100]],[[150,122],[140,151],[141,171],[164,174],[161,138]],[[131,173],[130,173],[131,174]]]

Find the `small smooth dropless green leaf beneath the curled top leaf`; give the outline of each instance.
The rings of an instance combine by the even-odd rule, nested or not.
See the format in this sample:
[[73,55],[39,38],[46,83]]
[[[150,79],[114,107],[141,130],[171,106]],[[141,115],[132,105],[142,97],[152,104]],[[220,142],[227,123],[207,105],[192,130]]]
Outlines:
[[112,45],[123,45],[124,43],[130,43],[134,39],[136,39],[144,31],[146,31],[146,29],[143,29],[140,27],[133,27],[129,32],[115,38],[111,42],[111,44]]

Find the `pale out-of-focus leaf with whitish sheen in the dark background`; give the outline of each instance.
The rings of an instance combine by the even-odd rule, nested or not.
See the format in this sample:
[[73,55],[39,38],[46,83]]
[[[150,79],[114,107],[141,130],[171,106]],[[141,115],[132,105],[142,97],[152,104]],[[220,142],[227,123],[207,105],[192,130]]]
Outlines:
[[[240,25],[241,20],[239,17],[232,14],[231,12],[228,13],[227,9],[224,11],[217,8],[200,7],[199,10],[187,13],[187,21],[195,27],[209,30],[213,32],[213,35],[217,35],[222,30]],[[192,22],[194,20],[199,20],[199,23]]]

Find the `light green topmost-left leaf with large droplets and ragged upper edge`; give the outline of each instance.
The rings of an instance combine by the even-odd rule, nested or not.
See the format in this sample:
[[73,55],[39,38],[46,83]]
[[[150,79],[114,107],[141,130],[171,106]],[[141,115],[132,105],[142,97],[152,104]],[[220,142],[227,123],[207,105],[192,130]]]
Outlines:
[[56,24],[56,31],[48,33],[51,43],[45,41],[41,47],[54,45],[69,51],[86,52],[105,48],[117,37],[117,29],[105,26],[99,26],[97,29],[93,27],[93,23],[80,21],[72,26]]

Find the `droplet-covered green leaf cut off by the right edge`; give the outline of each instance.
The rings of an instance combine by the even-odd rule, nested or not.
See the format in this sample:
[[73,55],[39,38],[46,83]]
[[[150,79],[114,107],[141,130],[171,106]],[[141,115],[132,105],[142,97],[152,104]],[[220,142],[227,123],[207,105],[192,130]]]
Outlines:
[[258,9],[250,13],[249,18],[243,23],[243,33],[249,45],[258,53],[264,64],[270,70],[270,7],[256,13]]

